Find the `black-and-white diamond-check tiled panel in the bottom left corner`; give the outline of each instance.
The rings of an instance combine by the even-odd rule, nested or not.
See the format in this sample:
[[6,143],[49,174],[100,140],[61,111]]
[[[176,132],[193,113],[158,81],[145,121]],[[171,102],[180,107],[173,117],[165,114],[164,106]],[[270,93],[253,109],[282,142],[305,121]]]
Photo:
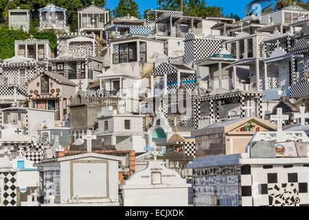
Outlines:
[[3,205],[16,206],[17,204],[17,175],[16,172],[0,172],[0,179],[3,179]]

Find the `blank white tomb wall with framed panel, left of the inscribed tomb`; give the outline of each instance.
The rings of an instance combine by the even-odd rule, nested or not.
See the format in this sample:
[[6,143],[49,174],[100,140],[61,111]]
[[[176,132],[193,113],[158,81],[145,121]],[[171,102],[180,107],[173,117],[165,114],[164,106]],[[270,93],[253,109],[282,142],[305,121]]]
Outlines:
[[[73,170],[71,170],[71,162],[73,162]],[[65,203],[68,199],[71,199],[72,187],[73,196],[79,193],[80,202],[118,201],[117,161],[86,157],[60,162],[60,169],[61,203]],[[87,177],[87,175],[89,175],[89,177]],[[73,183],[71,183],[71,176],[73,178]],[[108,182],[107,184],[106,181]],[[82,197],[93,198],[82,199]]]

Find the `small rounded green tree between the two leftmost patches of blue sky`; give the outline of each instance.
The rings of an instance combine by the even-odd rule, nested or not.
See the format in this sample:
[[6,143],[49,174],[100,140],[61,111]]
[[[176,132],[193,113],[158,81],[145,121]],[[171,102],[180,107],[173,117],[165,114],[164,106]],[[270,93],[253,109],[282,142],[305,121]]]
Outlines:
[[119,0],[117,7],[113,10],[113,16],[124,17],[127,14],[139,19],[141,16],[139,14],[139,5],[134,0]]

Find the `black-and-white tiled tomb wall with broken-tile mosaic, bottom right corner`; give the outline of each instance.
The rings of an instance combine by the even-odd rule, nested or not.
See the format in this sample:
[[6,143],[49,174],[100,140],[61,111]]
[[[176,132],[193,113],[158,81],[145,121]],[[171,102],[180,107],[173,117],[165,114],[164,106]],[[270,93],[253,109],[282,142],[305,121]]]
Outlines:
[[251,166],[242,166],[242,206],[309,206],[307,172],[290,168],[264,165],[251,173]]

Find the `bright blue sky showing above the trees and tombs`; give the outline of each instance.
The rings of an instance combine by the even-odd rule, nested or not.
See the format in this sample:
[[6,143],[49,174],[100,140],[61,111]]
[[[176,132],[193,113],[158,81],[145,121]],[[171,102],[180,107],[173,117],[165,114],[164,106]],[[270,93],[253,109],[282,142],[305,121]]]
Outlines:
[[[139,4],[139,10],[141,14],[148,8],[157,8],[157,0],[136,0]],[[214,5],[220,6],[224,10],[224,14],[238,14],[240,17],[244,17],[244,6],[249,0],[206,0],[207,6]],[[113,10],[117,6],[118,0],[107,0],[106,8]]]

